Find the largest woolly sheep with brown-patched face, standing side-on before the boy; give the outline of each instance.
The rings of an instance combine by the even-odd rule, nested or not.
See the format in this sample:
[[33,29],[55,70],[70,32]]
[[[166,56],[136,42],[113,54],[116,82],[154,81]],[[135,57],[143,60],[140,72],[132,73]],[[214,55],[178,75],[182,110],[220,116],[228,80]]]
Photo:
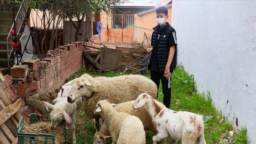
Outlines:
[[155,82],[143,75],[122,75],[115,77],[92,77],[84,74],[73,80],[71,91],[68,96],[69,102],[81,96],[84,99],[84,111],[86,116],[96,118],[95,125],[99,131],[99,117],[94,117],[93,111],[96,103],[100,100],[110,99],[114,103],[132,101],[145,91],[152,91],[152,96],[157,96]]

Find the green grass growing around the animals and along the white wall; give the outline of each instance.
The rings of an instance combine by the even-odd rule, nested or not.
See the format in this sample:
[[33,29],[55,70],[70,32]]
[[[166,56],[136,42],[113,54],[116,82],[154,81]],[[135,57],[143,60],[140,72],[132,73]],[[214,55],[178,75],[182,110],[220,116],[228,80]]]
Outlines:
[[[86,69],[80,69],[70,78],[77,78],[80,75],[88,73]],[[90,75],[113,77],[117,75],[128,75],[130,73],[108,72],[99,73],[92,71]],[[146,75],[150,78],[149,73]],[[210,93],[198,93],[195,87],[195,80],[193,75],[188,75],[182,66],[178,66],[172,73],[171,81],[171,109],[175,111],[189,111],[202,114],[205,116],[212,116],[208,121],[204,122],[204,134],[207,144],[248,144],[246,132],[247,129],[243,127],[239,133],[230,138],[229,131],[235,132],[232,123],[223,117],[221,112],[216,111],[213,107]],[[163,101],[162,86],[160,85],[158,101]],[[96,129],[94,123],[88,120],[83,113],[83,110],[78,110],[76,113],[76,140],[77,144],[92,144],[93,136]],[[152,144],[152,136],[154,133],[148,132],[146,135],[146,143]],[[71,141],[71,133],[68,131],[67,138]],[[168,139],[167,142],[171,144]],[[160,144],[160,143],[159,143]]]

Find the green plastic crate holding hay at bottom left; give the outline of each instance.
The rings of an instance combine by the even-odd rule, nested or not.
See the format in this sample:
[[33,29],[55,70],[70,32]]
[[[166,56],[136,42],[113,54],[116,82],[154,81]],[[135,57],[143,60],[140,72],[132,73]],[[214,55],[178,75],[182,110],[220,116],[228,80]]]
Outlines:
[[[29,121],[30,123],[36,123],[37,122],[37,114],[32,113],[29,115]],[[42,120],[42,122],[51,122],[51,120]],[[24,123],[24,118],[21,117],[20,122],[18,123],[17,129],[18,129],[18,144],[55,144],[55,135],[51,134],[34,134],[34,133],[22,133],[23,127],[21,126]],[[66,129],[67,129],[67,123],[64,121],[62,124],[65,124],[64,127],[64,139],[66,139]],[[36,137],[45,138],[44,140],[37,140]]]

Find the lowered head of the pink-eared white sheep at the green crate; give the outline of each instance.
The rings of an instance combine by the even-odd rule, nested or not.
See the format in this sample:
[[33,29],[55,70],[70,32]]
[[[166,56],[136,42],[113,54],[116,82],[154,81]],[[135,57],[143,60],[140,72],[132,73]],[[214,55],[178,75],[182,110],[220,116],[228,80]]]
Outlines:
[[62,110],[61,107],[56,107],[48,102],[45,101],[41,101],[42,105],[44,105],[45,107],[49,107],[52,110],[52,112],[50,112],[50,118],[51,118],[51,128],[56,128],[57,125],[62,121],[65,120],[68,124],[72,123],[71,117],[69,117],[69,115],[66,113],[65,110]]

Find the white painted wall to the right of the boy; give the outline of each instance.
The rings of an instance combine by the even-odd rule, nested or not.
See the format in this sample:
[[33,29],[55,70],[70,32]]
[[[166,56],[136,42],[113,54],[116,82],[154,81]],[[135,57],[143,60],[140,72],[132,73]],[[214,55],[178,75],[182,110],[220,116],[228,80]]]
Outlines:
[[178,62],[256,144],[256,1],[173,0],[172,26]]

